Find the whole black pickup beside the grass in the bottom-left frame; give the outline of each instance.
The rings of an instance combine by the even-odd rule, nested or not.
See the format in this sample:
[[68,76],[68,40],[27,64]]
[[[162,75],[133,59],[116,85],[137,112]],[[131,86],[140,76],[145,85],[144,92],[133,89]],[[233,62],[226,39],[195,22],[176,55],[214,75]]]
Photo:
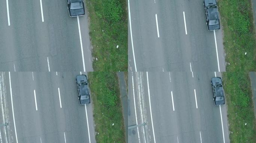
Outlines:
[[82,104],[89,104],[90,103],[90,93],[88,87],[88,80],[86,75],[81,74],[76,76],[76,85],[78,90],[78,99],[79,103]]

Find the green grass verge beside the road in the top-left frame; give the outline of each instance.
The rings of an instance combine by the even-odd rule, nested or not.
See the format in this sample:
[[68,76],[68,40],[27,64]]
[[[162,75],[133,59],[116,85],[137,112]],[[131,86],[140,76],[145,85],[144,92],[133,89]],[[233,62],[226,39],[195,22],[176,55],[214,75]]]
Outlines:
[[[94,71],[128,70],[125,0],[87,0]],[[118,46],[118,48],[116,48]],[[97,58],[97,59],[96,59]]]

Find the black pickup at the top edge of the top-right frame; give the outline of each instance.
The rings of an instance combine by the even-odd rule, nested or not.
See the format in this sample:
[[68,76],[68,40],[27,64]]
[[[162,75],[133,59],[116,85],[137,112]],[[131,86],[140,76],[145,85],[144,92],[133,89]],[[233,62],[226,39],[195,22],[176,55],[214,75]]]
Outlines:
[[204,0],[204,9],[208,31],[220,29],[220,20],[216,0]]

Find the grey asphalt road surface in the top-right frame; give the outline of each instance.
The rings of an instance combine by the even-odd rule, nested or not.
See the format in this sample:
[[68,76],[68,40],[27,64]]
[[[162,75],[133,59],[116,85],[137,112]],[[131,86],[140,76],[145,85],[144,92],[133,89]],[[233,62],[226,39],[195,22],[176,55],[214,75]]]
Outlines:
[[198,71],[225,71],[222,31],[215,31],[215,44],[202,1],[129,1],[129,8],[130,71],[189,71],[190,63]]

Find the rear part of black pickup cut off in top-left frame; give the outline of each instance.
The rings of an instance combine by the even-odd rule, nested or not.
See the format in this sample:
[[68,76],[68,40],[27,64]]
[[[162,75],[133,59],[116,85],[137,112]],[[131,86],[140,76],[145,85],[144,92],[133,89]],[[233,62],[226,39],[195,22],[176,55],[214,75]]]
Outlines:
[[85,15],[83,0],[67,0],[70,17]]

